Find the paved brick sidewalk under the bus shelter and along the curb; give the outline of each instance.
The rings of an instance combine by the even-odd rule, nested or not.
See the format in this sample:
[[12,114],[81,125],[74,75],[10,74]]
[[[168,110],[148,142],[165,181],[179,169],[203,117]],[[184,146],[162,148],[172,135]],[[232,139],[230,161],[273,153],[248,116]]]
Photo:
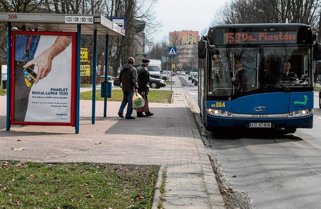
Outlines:
[[186,97],[181,92],[173,96],[173,104],[149,103],[154,115],[135,120],[119,118],[120,102],[110,101],[103,117],[104,102],[96,101],[95,124],[92,101],[81,100],[79,134],[69,126],[12,126],[6,131],[6,96],[0,96],[0,159],[163,165],[164,208],[225,208]]

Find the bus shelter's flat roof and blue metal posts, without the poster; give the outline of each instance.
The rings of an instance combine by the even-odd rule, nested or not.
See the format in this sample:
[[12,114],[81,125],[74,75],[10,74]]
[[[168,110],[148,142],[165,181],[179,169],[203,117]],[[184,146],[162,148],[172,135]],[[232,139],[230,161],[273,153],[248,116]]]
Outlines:
[[[10,130],[10,61],[11,61],[11,30],[12,27],[22,31],[49,31],[77,33],[77,84],[76,84],[76,118],[75,133],[79,133],[80,109],[80,49],[81,34],[94,36],[93,66],[97,66],[97,35],[106,36],[105,48],[105,83],[108,83],[108,38],[111,36],[124,36],[125,30],[101,15],[77,14],[27,14],[27,13],[0,13],[0,23],[7,24],[7,130]],[[95,123],[96,102],[96,68],[93,68],[93,97],[92,97],[92,124]],[[105,85],[107,86],[107,85]],[[107,91],[104,91],[107,92]],[[104,95],[104,117],[107,112],[107,95]]]

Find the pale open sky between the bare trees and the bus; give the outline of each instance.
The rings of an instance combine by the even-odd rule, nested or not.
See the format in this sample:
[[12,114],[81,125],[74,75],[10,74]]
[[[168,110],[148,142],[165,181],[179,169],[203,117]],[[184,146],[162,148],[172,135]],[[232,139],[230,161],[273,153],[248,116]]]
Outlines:
[[168,40],[169,33],[174,31],[199,31],[201,35],[226,2],[228,0],[158,0],[153,11],[163,27],[154,34],[154,41]]

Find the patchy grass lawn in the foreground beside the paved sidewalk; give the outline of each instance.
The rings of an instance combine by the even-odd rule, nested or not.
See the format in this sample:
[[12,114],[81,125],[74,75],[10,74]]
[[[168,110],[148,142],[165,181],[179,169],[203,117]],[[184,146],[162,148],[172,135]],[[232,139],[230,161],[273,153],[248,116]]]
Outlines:
[[159,166],[0,160],[0,208],[149,209]]

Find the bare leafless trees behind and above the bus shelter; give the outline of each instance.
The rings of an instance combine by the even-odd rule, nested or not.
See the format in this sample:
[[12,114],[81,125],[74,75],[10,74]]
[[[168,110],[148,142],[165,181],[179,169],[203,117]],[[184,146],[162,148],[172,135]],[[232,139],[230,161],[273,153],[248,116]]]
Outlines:
[[[133,57],[137,51],[144,50],[144,43],[149,43],[148,36],[159,24],[155,21],[152,11],[157,0],[0,0],[0,12],[19,13],[56,13],[56,14],[101,14],[107,19],[112,17],[126,18],[126,35],[124,37],[109,37],[109,66],[112,74],[117,75],[120,63],[124,64],[128,57]],[[139,23],[138,23],[139,22]],[[140,24],[140,23],[143,24]],[[138,33],[143,27],[144,32]],[[1,25],[0,50],[2,58],[7,55],[7,27]],[[97,59],[105,51],[105,37],[97,37]],[[82,47],[89,50],[92,58],[92,36],[82,36]],[[111,53],[115,50],[116,53]],[[5,60],[5,59],[3,59]]]

